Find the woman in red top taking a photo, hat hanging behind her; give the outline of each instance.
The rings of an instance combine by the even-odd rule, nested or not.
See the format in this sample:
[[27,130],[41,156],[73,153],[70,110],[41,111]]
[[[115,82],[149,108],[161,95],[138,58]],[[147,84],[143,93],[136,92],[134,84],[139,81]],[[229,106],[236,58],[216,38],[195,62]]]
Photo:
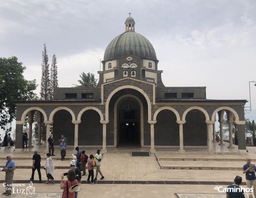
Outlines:
[[63,181],[64,174],[61,174],[61,189],[63,189],[62,198],[74,198],[74,192],[78,188],[78,181],[73,170],[69,170],[68,181]]

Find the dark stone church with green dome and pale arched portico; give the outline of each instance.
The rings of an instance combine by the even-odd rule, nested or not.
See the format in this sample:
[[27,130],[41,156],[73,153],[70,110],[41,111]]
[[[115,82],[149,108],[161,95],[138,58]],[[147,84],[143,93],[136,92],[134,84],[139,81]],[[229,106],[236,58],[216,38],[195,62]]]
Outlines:
[[[33,122],[39,128],[46,124],[46,139],[52,128],[55,139],[64,134],[69,147],[74,148],[95,147],[104,153],[111,147],[132,145],[148,148],[151,153],[157,148],[176,148],[182,153],[202,147],[214,153],[215,131],[219,129],[215,129],[215,122],[220,124],[222,146],[226,113],[229,148],[234,148],[235,122],[238,149],[245,151],[246,100],[206,99],[206,87],[166,87],[154,47],[135,32],[134,18],[128,17],[125,32],[110,41],[102,65],[95,88],[55,88],[53,100],[17,101],[15,150],[23,150],[23,124],[27,119],[30,137]],[[33,119],[35,113],[37,120]],[[55,140],[55,144],[59,142]]]

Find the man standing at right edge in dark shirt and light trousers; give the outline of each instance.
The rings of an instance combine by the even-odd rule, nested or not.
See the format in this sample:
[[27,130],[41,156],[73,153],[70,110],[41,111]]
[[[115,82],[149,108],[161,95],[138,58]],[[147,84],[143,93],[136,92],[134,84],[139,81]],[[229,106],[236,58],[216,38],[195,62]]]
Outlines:
[[[246,158],[246,164],[243,166],[243,174],[245,174],[246,186],[251,188],[253,186],[253,194],[256,197],[256,177],[255,177],[255,165],[251,164],[251,159]],[[249,197],[252,197],[250,194]]]

